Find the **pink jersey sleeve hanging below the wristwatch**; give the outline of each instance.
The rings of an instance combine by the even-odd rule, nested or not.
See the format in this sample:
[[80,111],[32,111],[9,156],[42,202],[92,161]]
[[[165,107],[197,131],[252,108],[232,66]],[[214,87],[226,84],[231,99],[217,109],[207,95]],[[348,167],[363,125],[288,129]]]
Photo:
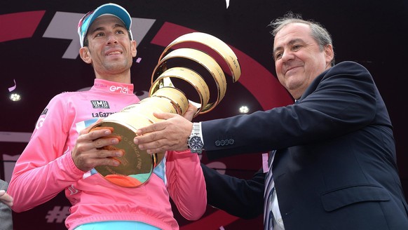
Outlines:
[[207,208],[207,191],[198,155],[168,151],[166,177],[170,197],[180,214],[189,220],[202,217]]

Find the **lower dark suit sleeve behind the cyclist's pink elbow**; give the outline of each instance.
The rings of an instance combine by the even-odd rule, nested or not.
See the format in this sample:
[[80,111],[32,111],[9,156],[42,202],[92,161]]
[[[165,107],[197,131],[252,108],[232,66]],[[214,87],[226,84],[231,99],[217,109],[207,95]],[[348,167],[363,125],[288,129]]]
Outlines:
[[208,204],[243,219],[258,217],[264,211],[262,170],[250,180],[223,175],[201,163],[207,186]]

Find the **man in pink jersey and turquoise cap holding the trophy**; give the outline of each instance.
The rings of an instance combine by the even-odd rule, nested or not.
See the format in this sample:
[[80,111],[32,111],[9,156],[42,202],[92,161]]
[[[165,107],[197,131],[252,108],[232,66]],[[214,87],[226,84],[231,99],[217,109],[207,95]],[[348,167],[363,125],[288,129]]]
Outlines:
[[[39,116],[8,187],[15,212],[50,201],[64,190],[72,203],[68,229],[179,229],[170,198],[186,219],[204,214],[205,180],[198,155],[190,151],[166,152],[149,181],[137,188],[108,182],[95,170],[118,165],[114,157],[123,153],[103,149],[118,144],[118,138],[108,137],[108,128],[90,131],[90,125],[140,101],[130,83],[136,56],[131,23],[129,13],[116,4],[104,4],[80,20],[79,53],[93,66],[94,86],[56,95]],[[194,112],[187,111],[186,118],[192,119]]]

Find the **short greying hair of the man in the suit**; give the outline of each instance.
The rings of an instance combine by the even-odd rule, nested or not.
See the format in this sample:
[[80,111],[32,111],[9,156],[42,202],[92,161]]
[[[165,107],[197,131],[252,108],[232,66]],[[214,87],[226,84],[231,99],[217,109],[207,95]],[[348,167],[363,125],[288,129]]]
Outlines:
[[[319,22],[315,22],[313,20],[304,20],[303,18],[301,18],[301,15],[294,14],[291,11],[283,15],[282,18],[277,18],[269,24],[269,26],[273,28],[273,30],[271,31],[273,37],[278,34],[280,29],[290,23],[304,23],[311,27],[311,36],[318,43],[320,50],[323,50],[327,45],[333,46],[332,36],[329,34],[327,29],[325,29],[325,27],[323,27]],[[333,57],[330,65],[334,66],[334,64],[335,61]]]

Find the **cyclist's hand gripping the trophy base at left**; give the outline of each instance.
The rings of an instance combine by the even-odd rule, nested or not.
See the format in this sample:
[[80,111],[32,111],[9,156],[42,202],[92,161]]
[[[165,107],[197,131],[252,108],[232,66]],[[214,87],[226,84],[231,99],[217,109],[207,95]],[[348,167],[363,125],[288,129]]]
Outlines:
[[81,131],[72,150],[76,168],[88,172],[98,165],[118,166],[119,162],[114,157],[123,156],[123,151],[102,149],[120,142],[118,137],[111,136],[113,128],[100,127],[90,131],[92,127],[93,125]]

